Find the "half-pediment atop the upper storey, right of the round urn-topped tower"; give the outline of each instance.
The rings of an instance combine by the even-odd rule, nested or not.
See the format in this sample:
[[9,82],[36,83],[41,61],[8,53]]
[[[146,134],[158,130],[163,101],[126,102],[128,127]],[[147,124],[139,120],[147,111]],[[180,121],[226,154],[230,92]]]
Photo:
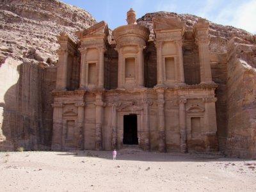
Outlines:
[[165,18],[165,17],[153,17],[153,28],[154,29],[182,29],[184,31],[185,22],[175,18]]

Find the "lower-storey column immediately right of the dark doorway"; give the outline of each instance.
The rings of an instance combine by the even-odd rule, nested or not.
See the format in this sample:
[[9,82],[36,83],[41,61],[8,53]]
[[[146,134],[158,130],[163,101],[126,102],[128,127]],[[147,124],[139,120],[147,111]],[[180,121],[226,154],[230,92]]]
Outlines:
[[143,139],[144,139],[144,143],[143,143],[143,150],[150,150],[150,127],[149,127],[149,105],[152,104],[152,102],[145,100],[143,102]]

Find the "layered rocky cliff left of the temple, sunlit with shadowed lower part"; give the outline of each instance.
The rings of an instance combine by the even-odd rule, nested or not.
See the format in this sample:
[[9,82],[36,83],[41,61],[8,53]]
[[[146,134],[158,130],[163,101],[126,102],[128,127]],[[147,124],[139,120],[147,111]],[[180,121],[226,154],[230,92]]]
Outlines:
[[0,18],[0,149],[49,148],[57,36],[96,21],[55,0],[1,0]]

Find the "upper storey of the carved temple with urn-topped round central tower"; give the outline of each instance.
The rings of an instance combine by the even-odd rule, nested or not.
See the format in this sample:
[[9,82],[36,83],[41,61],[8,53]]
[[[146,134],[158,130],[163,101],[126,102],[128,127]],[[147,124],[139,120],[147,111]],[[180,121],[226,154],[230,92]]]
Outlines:
[[[79,42],[61,34],[56,90],[212,84],[209,23],[198,20],[192,35],[186,38],[185,23],[180,20],[154,17],[152,22],[154,44],[148,41],[149,29],[136,24],[132,9],[127,12],[128,24],[113,30],[112,40],[104,21],[78,31]],[[186,55],[191,45],[196,49]],[[191,61],[184,63],[189,56]]]

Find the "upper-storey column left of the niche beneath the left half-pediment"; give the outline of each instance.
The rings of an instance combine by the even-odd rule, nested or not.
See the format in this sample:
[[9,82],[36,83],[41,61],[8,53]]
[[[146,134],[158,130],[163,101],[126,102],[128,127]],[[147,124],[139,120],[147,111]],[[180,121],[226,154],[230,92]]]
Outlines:
[[81,65],[80,65],[80,83],[79,88],[85,89],[86,88],[86,54],[87,48],[79,49],[81,52]]

